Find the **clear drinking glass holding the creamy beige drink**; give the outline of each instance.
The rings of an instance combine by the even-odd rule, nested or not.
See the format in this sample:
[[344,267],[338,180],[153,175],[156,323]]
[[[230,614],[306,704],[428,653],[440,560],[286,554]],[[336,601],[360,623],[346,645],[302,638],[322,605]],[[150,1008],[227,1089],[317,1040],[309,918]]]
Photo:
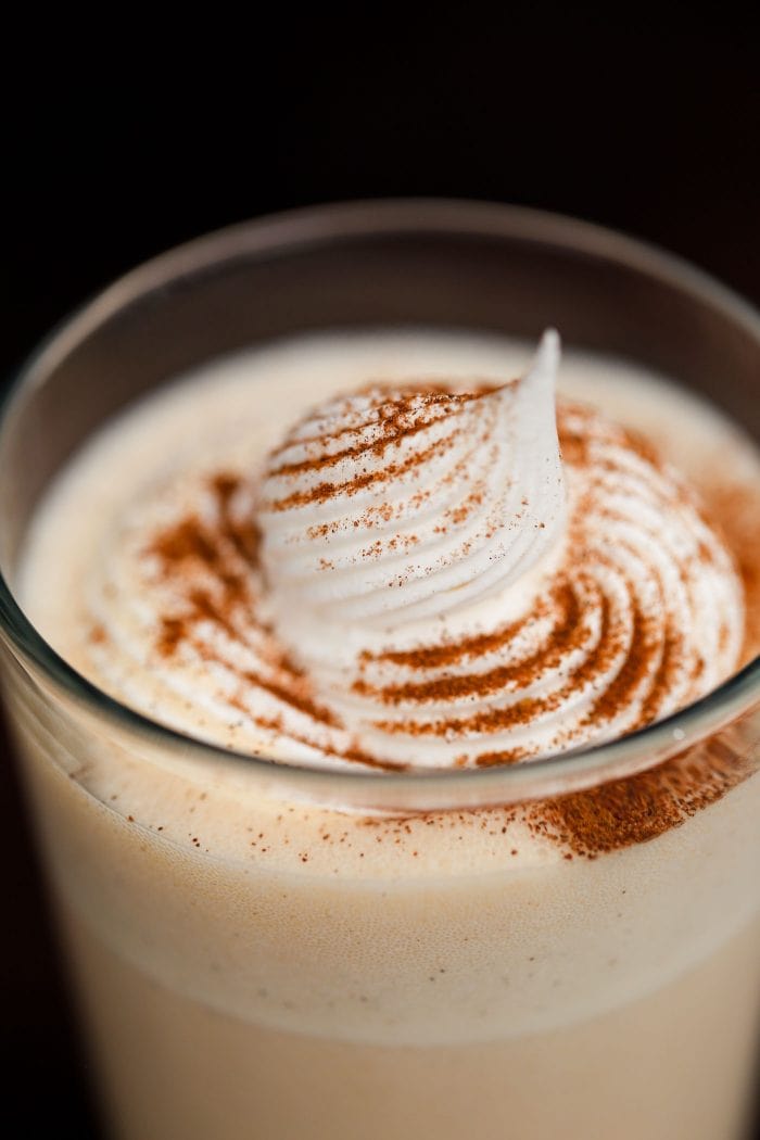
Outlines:
[[[113,285],[19,377],[0,430],[5,694],[115,1135],[742,1134],[760,1008],[757,661],[569,756],[335,773],[130,711],[13,595],[56,471],[178,373],[314,329],[537,339],[547,323],[760,435],[744,302],[622,236],[475,203],[321,207],[193,242]],[[178,803],[183,830],[161,822]],[[510,805],[534,803],[573,858],[517,865],[499,847]],[[604,826],[621,816],[636,821],[622,846]]]

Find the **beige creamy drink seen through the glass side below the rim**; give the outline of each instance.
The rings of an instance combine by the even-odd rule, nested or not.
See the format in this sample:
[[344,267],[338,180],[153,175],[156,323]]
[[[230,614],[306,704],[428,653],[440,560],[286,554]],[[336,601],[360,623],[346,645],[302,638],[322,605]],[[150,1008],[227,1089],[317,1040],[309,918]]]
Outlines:
[[[43,628],[67,596],[48,575]],[[500,809],[368,823],[6,685],[116,1135],[741,1134],[760,776],[567,860]]]

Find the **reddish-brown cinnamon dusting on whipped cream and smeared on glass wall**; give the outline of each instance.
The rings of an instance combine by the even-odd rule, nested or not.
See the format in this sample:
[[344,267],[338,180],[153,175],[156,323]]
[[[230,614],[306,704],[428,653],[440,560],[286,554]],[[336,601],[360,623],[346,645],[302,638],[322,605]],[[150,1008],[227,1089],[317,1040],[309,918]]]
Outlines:
[[[474,396],[457,397],[458,406],[466,404]],[[287,478],[304,471],[319,472],[337,465],[343,459],[357,459],[362,454],[384,455],[391,448],[399,448],[403,440],[422,432],[435,422],[438,412],[448,407],[453,397],[436,396],[427,404],[415,405],[412,397],[399,401],[390,401],[376,409],[377,420],[371,421],[373,429],[379,431],[379,437],[367,442],[350,443],[338,451],[326,456],[307,457],[293,463],[281,463],[271,473]],[[455,401],[456,404],[456,401]],[[433,418],[422,414],[426,409]],[[431,410],[432,409],[432,410]],[[418,418],[415,418],[417,416]],[[588,423],[586,413],[578,408],[565,408],[558,417],[562,451],[565,463],[577,469],[594,464],[604,472],[614,472],[615,464],[606,458],[594,455],[597,442],[594,430],[588,432],[583,425]],[[579,421],[581,426],[579,427]],[[378,427],[379,425],[379,427]],[[359,435],[365,425],[346,429]],[[458,429],[455,427],[455,433]],[[340,434],[340,433],[338,433]],[[631,433],[624,435],[626,446],[630,447],[640,458],[653,463],[659,469],[652,448],[645,441]],[[327,437],[325,437],[327,438]],[[324,439],[322,438],[322,441]],[[330,435],[330,439],[334,437]],[[340,495],[352,495],[363,487],[376,482],[400,478],[406,471],[427,462],[439,449],[448,448],[453,435],[449,433],[433,442],[428,448],[411,454],[400,461],[392,461],[382,471],[361,471],[346,481],[330,482],[322,480],[305,491],[293,492],[270,504],[270,510],[284,511],[309,502],[326,502]],[[291,441],[291,443],[293,440]],[[314,440],[305,440],[308,446]],[[287,446],[280,449],[280,454]],[[278,453],[275,453],[277,455]],[[603,475],[604,478],[604,475]],[[163,614],[156,632],[156,650],[165,657],[178,652],[180,645],[187,644],[201,658],[216,661],[232,673],[239,682],[239,691],[230,698],[229,703],[244,712],[261,728],[280,736],[308,744],[321,747],[319,730],[344,731],[344,725],[336,712],[324,701],[316,698],[310,678],[297,662],[277,643],[271,629],[256,616],[256,604],[260,596],[259,545],[261,535],[255,522],[240,520],[235,511],[235,498],[242,487],[237,475],[219,473],[209,483],[209,490],[215,502],[213,522],[189,513],[173,526],[155,536],[147,553],[158,564],[158,575],[173,584],[185,583],[183,604],[177,611]],[[441,528],[458,526],[466,521],[468,511],[481,505],[481,492],[475,489],[469,498],[452,507],[441,521]],[[523,505],[526,505],[525,503]],[[757,500],[753,502],[757,510]],[[373,507],[378,520],[389,522],[392,518],[390,504]],[[582,516],[583,505],[578,514]],[[599,515],[604,511],[597,512]],[[734,510],[734,516],[736,516]],[[728,511],[730,515],[732,512]],[[610,510],[611,521],[626,521]],[[755,516],[757,518],[757,516]],[[354,526],[358,523],[354,522]],[[370,528],[374,516],[368,513],[362,524]],[[329,523],[313,528],[312,538],[327,537]],[[730,529],[730,520],[728,529]],[[726,528],[726,523],[724,524]],[[755,531],[757,534],[757,531]],[[746,532],[742,534],[746,539]],[[733,535],[736,542],[736,534]],[[414,540],[412,540],[414,542]],[[575,545],[573,545],[575,544]],[[387,542],[389,548],[394,548],[393,542]],[[732,544],[734,545],[734,544]],[[746,545],[746,544],[745,544]],[[383,544],[379,539],[365,547],[367,557],[376,557]],[[739,544],[734,549],[742,551]],[[571,528],[572,557],[583,564],[588,552],[583,548],[580,530],[575,534]],[[634,552],[636,553],[636,552]],[[749,612],[757,612],[754,625],[760,641],[760,551],[757,545],[750,556],[739,559],[745,586],[747,587]],[[596,555],[597,562],[604,559]],[[713,557],[706,544],[698,551],[698,559],[709,562]],[[329,561],[325,560],[329,568]],[[615,572],[622,576],[619,565],[610,562]],[[206,576],[204,578],[204,576]],[[203,583],[203,584],[202,584]],[[587,597],[579,594],[577,586],[591,591],[596,597],[598,628],[585,620],[588,612]],[[559,580],[539,598],[533,612],[493,633],[463,637],[453,642],[425,644],[406,651],[387,649],[379,653],[363,653],[360,659],[360,675],[353,683],[353,692],[361,698],[368,698],[379,706],[425,706],[431,703],[449,705],[463,700],[472,700],[476,706],[483,698],[495,698],[513,690],[521,691],[534,684],[550,670],[562,666],[569,654],[582,651],[580,663],[575,665],[563,678],[556,691],[540,695],[523,698],[512,703],[490,705],[485,708],[474,708],[468,715],[443,715],[435,720],[378,719],[375,727],[389,734],[407,734],[411,736],[453,736],[468,738],[469,762],[480,766],[509,765],[529,758],[532,752],[528,748],[488,748],[495,733],[514,726],[530,726],[540,717],[546,716],[562,703],[571,701],[581,691],[591,692],[598,686],[598,692],[585,715],[583,726],[613,722],[623,710],[640,701],[637,719],[631,727],[648,724],[660,715],[662,701],[672,690],[675,679],[685,667],[684,638],[677,628],[665,622],[662,628],[662,616],[651,617],[643,611],[636,600],[631,584],[628,584],[630,602],[629,625],[621,622],[613,612],[610,597],[598,587],[593,576],[585,577],[575,570],[572,578],[561,576]],[[753,606],[755,610],[753,611]],[[240,620],[243,617],[244,620]],[[515,638],[537,619],[549,620],[549,634],[544,642],[522,659],[499,662],[499,653],[512,646]],[[262,670],[252,670],[236,665],[234,654],[212,648],[199,636],[199,627],[211,625],[224,638],[236,643],[243,642],[246,629],[253,628],[261,645],[256,652],[264,661]],[[749,622],[751,625],[751,622]],[[724,630],[724,637],[727,637]],[[97,637],[93,633],[93,641]],[[477,671],[468,668],[465,673],[456,673],[455,668],[464,663],[476,665],[492,654],[495,665]],[[689,661],[690,676],[698,677],[704,662],[698,659]],[[369,679],[370,669],[395,666],[404,670],[406,679],[393,679],[391,684]],[[430,676],[430,670],[438,670]],[[603,678],[604,685],[602,685]],[[308,730],[294,730],[278,716],[259,716],[252,712],[246,692],[262,690],[269,693],[284,710],[297,712],[307,722],[311,722],[317,736]],[[558,738],[559,739],[559,738]],[[572,742],[569,738],[563,743]],[[479,751],[479,744],[482,750]],[[661,834],[671,826],[684,822],[701,807],[713,803],[727,790],[744,779],[751,766],[741,760],[734,752],[726,755],[717,742],[704,746],[695,758],[695,754],[668,762],[649,773],[616,781],[591,791],[574,793],[533,805],[528,808],[530,826],[536,833],[545,834],[553,841],[567,847],[567,857],[587,855],[594,857],[605,850],[624,847],[629,844],[646,841]],[[371,755],[359,742],[345,742],[330,738],[328,755],[356,762],[366,767],[384,769],[402,769],[404,764],[387,760]],[[466,764],[465,754],[457,762]]]

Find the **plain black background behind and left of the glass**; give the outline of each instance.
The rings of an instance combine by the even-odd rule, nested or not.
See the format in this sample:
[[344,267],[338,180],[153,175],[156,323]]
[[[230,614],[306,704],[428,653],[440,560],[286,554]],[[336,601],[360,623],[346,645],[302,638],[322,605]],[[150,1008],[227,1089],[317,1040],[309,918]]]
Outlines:
[[[662,15],[604,26],[532,11],[510,9],[497,26],[473,6],[457,17],[420,6],[415,21],[366,9],[361,23],[284,7],[267,25],[254,10],[251,27],[196,26],[190,42],[186,28],[158,39],[116,10],[76,54],[48,25],[44,58],[30,56],[40,30],[9,39],[26,74],[3,116],[1,374],[74,306],[167,246],[353,197],[575,214],[664,245],[760,302],[760,87],[747,26],[727,8],[692,11],[687,27]],[[23,1112],[30,1133],[52,1112],[60,1140],[88,1140],[85,1067],[7,769],[3,1108]]]

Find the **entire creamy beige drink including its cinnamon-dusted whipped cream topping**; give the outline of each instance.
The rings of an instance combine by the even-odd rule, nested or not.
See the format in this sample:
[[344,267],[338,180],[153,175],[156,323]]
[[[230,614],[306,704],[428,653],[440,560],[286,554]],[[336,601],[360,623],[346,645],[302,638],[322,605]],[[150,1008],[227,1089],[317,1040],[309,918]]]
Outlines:
[[230,750],[167,757],[7,679],[114,1134],[739,1137],[757,725],[416,814],[238,754],[398,777],[632,733],[757,654],[759,522],[736,425],[551,332],[292,339],[96,433],[21,601],[99,690]]

